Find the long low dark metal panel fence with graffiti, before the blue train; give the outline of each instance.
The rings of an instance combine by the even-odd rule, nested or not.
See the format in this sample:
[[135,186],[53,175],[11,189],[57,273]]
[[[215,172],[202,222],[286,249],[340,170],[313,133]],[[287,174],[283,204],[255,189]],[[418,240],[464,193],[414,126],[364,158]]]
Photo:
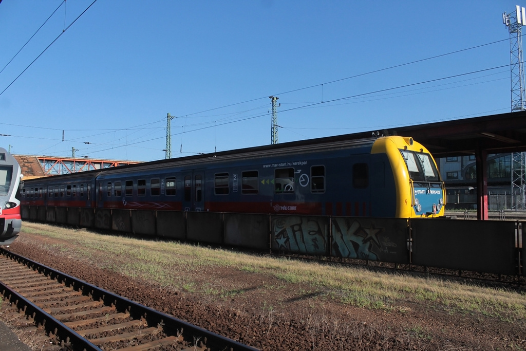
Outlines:
[[22,206],[22,219],[261,252],[526,276],[517,221]]

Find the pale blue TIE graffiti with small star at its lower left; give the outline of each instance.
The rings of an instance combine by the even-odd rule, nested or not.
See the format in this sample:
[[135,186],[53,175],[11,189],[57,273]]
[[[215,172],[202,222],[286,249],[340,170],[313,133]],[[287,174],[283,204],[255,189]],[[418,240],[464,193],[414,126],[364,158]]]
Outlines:
[[327,222],[320,217],[272,217],[272,248],[293,253],[325,255]]

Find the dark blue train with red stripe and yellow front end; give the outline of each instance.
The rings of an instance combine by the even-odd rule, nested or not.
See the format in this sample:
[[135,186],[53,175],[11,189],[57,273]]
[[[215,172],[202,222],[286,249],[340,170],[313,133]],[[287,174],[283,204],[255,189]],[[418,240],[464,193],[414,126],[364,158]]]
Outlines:
[[410,137],[252,147],[27,180],[22,203],[366,217],[443,215],[434,159]]

